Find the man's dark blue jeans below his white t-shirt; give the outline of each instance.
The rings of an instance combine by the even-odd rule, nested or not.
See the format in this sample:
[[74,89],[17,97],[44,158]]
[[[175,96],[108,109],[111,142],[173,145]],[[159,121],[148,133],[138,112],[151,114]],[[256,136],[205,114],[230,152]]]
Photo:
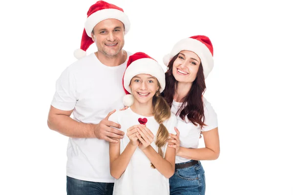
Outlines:
[[67,195],[112,195],[114,183],[83,181],[67,176]]

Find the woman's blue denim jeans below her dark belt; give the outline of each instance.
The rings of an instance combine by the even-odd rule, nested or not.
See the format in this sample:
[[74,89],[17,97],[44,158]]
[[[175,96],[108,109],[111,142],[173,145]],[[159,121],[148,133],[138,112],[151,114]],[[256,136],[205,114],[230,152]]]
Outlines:
[[[192,161],[192,160],[190,160]],[[190,162],[188,161],[188,162]],[[178,164],[184,164],[178,163]],[[183,169],[175,169],[169,178],[170,195],[205,195],[205,171],[201,163]]]

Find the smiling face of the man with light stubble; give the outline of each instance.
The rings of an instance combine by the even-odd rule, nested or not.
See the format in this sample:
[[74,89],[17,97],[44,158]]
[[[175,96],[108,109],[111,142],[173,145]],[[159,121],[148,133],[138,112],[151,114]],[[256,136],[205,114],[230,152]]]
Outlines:
[[114,58],[124,46],[124,24],[120,20],[107,19],[99,22],[93,29],[93,40],[98,51]]

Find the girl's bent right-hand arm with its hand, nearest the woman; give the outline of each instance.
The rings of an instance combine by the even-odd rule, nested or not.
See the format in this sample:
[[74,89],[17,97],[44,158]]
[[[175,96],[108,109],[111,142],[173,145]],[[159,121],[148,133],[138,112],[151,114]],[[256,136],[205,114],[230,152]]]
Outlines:
[[139,126],[137,135],[138,139],[141,141],[139,148],[143,151],[146,157],[154,165],[154,167],[166,178],[170,178],[174,174],[175,170],[175,149],[167,148],[165,158],[160,156],[153,147],[150,146],[153,142],[153,134],[145,126]]

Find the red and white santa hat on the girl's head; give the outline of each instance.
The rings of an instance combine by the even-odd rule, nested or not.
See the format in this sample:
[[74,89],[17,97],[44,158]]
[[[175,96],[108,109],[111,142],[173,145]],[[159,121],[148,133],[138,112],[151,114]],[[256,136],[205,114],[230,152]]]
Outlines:
[[129,87],[131,79],[139,74],[151,75],[160,83],[160,93],[165,89],[165,73],[162,66],[155,60],[146,55],[143,52],[138,52],[129,56],[127,61],[126,70],[123,75],[123,86],[126,96],[123,98],[125,106],[131,106],[134,102],[134,98],[131,89]]

